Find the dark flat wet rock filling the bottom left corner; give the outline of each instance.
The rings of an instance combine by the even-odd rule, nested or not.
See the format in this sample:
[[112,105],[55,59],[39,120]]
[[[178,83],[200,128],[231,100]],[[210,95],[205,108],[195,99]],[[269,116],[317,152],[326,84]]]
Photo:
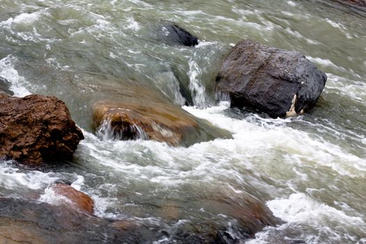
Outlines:
[[0,233],[0,243],[37,244],[151,243],[161,236],[137,221],[107,220],[68,206],[11,197],[0,197]]

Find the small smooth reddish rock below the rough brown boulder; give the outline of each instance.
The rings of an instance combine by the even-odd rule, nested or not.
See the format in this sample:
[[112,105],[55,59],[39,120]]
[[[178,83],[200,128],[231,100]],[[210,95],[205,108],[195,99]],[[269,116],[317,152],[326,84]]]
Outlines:
[[69,199],[75,208],[93,214],[94,202],[89,195],[63,183],[55,183],[51,188],[57,195]]

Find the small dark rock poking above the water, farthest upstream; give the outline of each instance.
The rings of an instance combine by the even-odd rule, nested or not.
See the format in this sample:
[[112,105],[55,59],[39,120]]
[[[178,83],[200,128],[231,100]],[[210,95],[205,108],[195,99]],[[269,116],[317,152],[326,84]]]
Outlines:
[[176,43],[188,47],[198,45],[197,36],[192,35],[177,24],[168,23],[161,26],[158,31],[158,38],[169,43]]

